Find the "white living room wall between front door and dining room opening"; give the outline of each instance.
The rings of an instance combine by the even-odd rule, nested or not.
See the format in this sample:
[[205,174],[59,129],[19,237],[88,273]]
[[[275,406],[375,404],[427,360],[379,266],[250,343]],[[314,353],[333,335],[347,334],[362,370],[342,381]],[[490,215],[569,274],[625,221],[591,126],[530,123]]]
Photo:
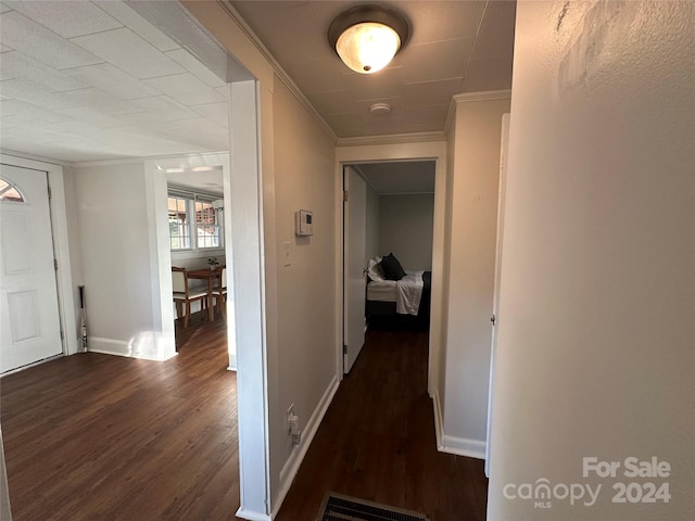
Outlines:
[[142,162],[77,167],[75,191],[89,347],[132,354],[153,329]]

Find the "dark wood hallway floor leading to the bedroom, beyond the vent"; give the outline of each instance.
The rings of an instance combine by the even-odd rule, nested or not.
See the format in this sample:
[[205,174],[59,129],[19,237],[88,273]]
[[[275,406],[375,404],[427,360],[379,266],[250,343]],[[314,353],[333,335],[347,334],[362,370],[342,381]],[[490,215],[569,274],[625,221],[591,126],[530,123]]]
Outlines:
[[278,521],[314,521],[328,491],[431,521],[485,519],[483,461],[437,450],[427,353],[427,333],[368,332]]

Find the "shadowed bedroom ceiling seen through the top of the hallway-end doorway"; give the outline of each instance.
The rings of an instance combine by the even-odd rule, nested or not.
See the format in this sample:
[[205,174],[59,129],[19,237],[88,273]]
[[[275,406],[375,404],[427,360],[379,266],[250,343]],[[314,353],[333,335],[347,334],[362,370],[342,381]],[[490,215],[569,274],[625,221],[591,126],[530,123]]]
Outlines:
[[433,161],[400,161],[353,165],[379,195],[434,193]]

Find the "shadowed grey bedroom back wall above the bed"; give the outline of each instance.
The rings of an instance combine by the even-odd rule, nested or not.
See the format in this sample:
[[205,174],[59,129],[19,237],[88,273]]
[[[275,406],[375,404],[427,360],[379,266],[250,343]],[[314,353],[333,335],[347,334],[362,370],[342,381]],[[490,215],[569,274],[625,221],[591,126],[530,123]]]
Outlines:
[[379,196],[379,255],[390,252],[405,269],[432,270],[434,194]]

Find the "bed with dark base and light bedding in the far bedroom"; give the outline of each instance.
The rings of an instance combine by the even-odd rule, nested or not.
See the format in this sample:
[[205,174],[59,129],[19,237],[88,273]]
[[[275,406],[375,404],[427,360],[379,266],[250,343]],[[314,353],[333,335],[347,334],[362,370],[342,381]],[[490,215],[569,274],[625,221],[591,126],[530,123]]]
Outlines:
[[[413,279],[421,279],[421,294],[417,306],[399,305],[399,291],[410,285]],[[430,326],[432,294],[431,271],[406,271],[399,281],[368,279],[365,315],[370,327],[389,329],[417,329],[427,331]],[[401,313],[399,313],[401,312]]]

